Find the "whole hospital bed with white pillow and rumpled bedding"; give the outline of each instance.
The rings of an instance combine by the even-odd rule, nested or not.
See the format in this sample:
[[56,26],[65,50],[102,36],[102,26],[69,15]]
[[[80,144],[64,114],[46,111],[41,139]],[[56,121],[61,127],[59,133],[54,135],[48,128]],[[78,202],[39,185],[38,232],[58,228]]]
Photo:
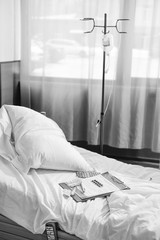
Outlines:
[[[159,240],[160,171],[67,142],[29,108],[0,109],[0,239]],[[59,183],[79,171],[109,172],[129,190],[76,202]]]

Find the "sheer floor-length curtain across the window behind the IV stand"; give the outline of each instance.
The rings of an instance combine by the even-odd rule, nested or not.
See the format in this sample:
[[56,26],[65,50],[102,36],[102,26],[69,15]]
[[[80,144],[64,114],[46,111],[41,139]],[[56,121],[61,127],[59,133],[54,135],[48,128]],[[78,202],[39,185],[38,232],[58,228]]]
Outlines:
[[46,111],[70,141],[99,144],[102,28],[113,35],[106,59],[104,143],[160,151],[160,2],[22,0],[22,105]]

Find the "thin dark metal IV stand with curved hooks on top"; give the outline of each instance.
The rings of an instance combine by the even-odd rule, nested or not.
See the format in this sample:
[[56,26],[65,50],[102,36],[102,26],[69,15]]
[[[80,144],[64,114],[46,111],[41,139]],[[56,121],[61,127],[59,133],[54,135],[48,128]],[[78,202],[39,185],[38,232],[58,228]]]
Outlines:
[[[115,25],[109,26],[107,25],[107,14],[104,14],[104,25],[96,25],[95,24],[95,20],[94,18],[83,18],[80,19],[81,21],[92,21],[93,26],[92,29],[89,31],[86,31],[84,33],[91,33],[93,32],[95,27],[98,28],[103,28],[103,34],[104,36],[109,33],[109,31],[107,31],[107,28],[116,28],[118,33],[127,33],[124,31],[119,31],[118,29],[118,23],[120,21],[126,21],[129,19],[118,19],[116,21]],[[100,152],[103,155],[103,141],[104,141],[104,90],[105,90],[105,63],[106,63],[106,53],[105,53],[105,48],[103,48],[103,74],[102,74],[102,98],[101,98],[101,114],[100,114],[100,120],[97,121],[97,124],[100,124]]]

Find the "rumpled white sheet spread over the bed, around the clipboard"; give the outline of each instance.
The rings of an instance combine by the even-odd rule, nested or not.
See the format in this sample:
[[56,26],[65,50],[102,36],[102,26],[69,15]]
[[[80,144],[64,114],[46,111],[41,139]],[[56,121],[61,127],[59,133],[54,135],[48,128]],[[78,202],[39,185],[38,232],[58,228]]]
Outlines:
[[64,198],[58,184],[75,173],[31,170],[21,174],[1,157],[0,213],[33,233],[42,233],[45,223],[53,220],[85,240],[159,240],[160,171],[77,149],[98,171],[113,173],[131,189],[111,194],[108,201],[76,203]]

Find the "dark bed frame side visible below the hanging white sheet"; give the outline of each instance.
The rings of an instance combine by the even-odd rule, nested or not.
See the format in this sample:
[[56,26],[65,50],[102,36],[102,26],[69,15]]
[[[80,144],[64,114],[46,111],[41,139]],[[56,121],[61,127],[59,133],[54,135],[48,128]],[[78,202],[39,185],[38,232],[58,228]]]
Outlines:
[[62,231],[58,223],[46,224],[43,234],[33,234],[12,220],[0,215],[0,240],[81,240],[75,235]]

